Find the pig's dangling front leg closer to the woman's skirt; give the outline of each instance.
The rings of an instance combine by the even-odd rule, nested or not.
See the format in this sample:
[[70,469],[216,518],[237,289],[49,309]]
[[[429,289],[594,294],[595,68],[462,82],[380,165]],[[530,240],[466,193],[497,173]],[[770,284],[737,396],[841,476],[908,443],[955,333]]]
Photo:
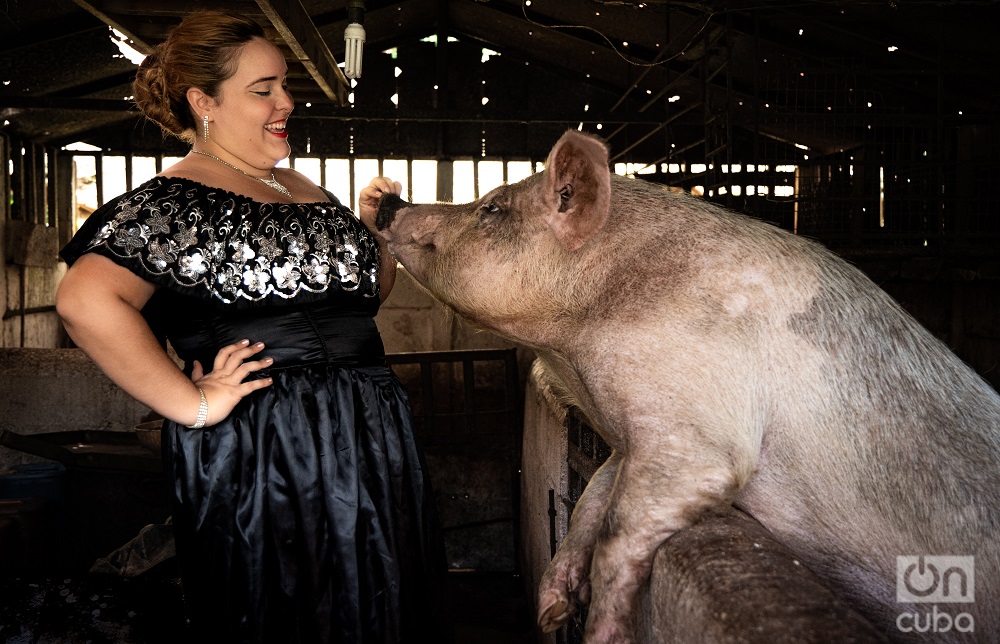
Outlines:
[[573,509],[569,530],[538,586],[538,625],[551,632],[565,624],[578,603],[590,601],[590,560],[607,513],[621,455],[613,452],[591,477]]

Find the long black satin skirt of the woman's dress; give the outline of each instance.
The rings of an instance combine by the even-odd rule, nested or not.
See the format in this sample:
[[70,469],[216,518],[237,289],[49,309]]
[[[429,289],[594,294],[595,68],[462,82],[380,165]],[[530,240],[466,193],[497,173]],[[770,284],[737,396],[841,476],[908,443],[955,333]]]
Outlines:
[[450,640],[443,542],[395,374],[312,362],[268,375],[217,425],[164,426],[193,636]]

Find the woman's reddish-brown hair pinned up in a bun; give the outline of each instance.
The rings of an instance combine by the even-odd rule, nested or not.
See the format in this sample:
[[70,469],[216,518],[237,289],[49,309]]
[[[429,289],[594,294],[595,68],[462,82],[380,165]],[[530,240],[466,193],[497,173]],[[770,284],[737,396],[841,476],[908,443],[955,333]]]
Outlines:
[[238,67],[240,49],[264,29],[252,18],[220,11],[198,11],[174,27],[146,56],[132,83],[135,104],[165,132],[192,142],[198,122],[187,101],[196,87],[209,96]]

